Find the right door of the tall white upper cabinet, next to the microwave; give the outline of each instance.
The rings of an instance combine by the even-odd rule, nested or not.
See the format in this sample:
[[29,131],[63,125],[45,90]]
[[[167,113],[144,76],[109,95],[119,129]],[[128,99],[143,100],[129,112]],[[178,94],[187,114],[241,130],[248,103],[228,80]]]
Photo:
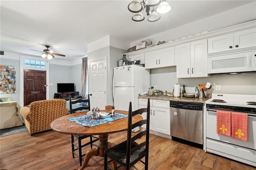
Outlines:
[[207,40],[190,42],[190,77],[207,76]]

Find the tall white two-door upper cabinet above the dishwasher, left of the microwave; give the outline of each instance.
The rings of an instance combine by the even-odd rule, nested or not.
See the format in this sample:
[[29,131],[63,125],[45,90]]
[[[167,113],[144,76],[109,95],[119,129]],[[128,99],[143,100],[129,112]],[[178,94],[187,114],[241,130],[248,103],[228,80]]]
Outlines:
[[207,40],[177,45],[175,60],[177,78],[207,77]]

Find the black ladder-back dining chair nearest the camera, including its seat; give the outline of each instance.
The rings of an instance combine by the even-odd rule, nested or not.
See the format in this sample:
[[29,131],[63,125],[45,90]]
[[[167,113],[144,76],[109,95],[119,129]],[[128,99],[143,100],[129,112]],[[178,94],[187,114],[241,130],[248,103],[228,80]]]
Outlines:
[[[137,169],[134,164],[138,161],[142,162],[145,165],[145,170],[148,170],[148,147],[149,147],[149,114],[150,103],[148,99],[147,108],[138,109],[132,112],[132,102],[129,105],[128,113],[128,131],[127,131],[127,140],[117,144],[116,146],[105,150],[104,152],[104,170],[111,170],[108,167],[108,163],[112,162],[112,165],[115,165],[114,170],[124,166],[126,170],[130,170],[130,167]],[[132,124],[132,117],[138,114],[146,112],[146,119],[139,121],[138,123]],[[132,129],[138,126],[146,124],[146,130],[140,131],[138,134],[132,137]],[[145,137],[146,135],[146,137]],[[142,136],[144,136],[142,138]],[[136,139],[143,139],[142,142],[135,142]],[[140,140],[140,141],[141,141]],[[108,157],[110,160],[108,161]],[[142,161],[142,158],[145,157],[145,161]],[[116,162],[120,164],[116,166]]]

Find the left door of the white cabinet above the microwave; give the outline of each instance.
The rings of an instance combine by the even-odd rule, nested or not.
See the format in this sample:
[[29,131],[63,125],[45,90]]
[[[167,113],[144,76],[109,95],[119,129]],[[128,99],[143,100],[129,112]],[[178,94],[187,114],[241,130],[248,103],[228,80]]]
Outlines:
[[233,47],[233,34],[226,34],[208,39],[208,53],[216,53],[220,51],[229,51]]

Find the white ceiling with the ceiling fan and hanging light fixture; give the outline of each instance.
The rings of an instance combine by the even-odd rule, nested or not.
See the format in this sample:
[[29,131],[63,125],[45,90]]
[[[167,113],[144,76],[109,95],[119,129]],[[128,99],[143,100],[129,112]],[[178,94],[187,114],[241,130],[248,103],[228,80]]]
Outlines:
[[[87,55],[87,44],[108,35],[130,42],[242,6],[251,0],[167,0],[172,10],[157,22],[134,22],[131,0],[0,2],[2,51],[33,55],[44,45],[73,60]],[[145,10],[144,10],[145,11]],[[145,14],[145,12],[143,13]],[[146,14],[144,15],[146,16]],[[127,47],[127,48],[128,48]],[[38,54],[38,56],[40,56]]]

